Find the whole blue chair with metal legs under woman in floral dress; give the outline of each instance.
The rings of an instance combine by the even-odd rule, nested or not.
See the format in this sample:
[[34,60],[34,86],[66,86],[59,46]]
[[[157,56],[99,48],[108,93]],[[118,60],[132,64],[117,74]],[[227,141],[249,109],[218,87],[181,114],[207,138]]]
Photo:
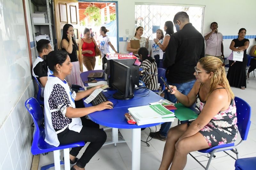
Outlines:
[[207,163],[207,166],[203,166],[203,164],[201,164],[201,162],[199,162],[191,153],[189,153],[189,155],[191,155],[202,167],[204,167],[204,169],[208,169],[212,160],[212,157],[215,158],[216,156],[214,155],[215,152],[220,152],[223,151],[225,153],[227,153],[227,150],[231,150],[232,152],[234,152],[236,154],[236,158],[234,158],[233,156],[231,156],[230,154],[228,154],[230,157],[232,157],[233,159],[239,159],[238,156],[238,150],[237,147],[239,145],[241,145],[241,143],[247,139],[248,136],[248,132],[250,129],[250,125],[251,125],[251,106],[245,102],[243,99],[239,98],[239,97],[235,97],[235,103],[236,103],[236,116],[237,116],[237,126],[238,126],[238,131],[240,133],[241,136],[241,141],[235,145],[235,143],[229,143],[229,144],[223,144],[223,145],[218,145],[212,148],[208,148],[208,149],[203,149],[200,150],[198,152],[201,153],[209,153],[210,157]]

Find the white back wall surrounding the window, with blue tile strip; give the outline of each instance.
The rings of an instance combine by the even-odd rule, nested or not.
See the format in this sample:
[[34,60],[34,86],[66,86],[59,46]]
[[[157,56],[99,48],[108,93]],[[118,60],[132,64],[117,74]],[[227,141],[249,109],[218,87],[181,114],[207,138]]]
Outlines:
[[[252,18],[255,17],[255,0],[158,0],[157,3],[154,0],[118,0],[118,18],[119,18],[119,37],[123,37],[125,30],[129,29],[129,34],[133,35],[134,30],[134,10],[135,3],[142,2],[147,4],[188,4],[188,5],[204,5],[204,23],[203,23],[203,35],[210,32],[210,24],[217,22],[219,25],[218,30],[223,35],[237,35],[240,28],[247,30],[247,35],[256,35],[255,24],[252,22]],[[174,17],[174,16],[173,16]],[[173,17],[170,20],[173,20]],[[193,24],[193,23],[192,23]],[[232,39],[225,39],[223,41],[224,54],[228,56],[231,51],[229,45]],[[249,39],[250,46],[255,44],[255,39]],[[127,42],[119,42],[119,51],[121,53],[127,53]],[[250,47],[249,47],[250,49]],[[249,51],[249,50],[248,50]],[[247,52],[248,53],[248,52]]]

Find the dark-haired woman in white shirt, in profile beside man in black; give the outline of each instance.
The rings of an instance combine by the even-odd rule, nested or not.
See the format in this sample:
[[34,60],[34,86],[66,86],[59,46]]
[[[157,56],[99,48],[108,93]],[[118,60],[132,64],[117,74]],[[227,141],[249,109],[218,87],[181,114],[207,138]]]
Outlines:
[[173,23],[172,21],[166,21],[164,23],[164,31],[166,32],[165,35],[164,35],[164,41],[163,43],[160,43],[159,42],[159,39],[154,39],[155,43],[159,46],[159,48],[161,50],[159,50],[159,56],[160,56],[160,64],[159,64],[159,67],[158,68],[164,68],[163,66],[163,61],[164,61],[164,58],[165,58],[165,53],[164,51],[166,50],[168,44],[169,44],[169,41],[170,41],[170,38],[171,38],[171,35],[174,33],[173,31]]

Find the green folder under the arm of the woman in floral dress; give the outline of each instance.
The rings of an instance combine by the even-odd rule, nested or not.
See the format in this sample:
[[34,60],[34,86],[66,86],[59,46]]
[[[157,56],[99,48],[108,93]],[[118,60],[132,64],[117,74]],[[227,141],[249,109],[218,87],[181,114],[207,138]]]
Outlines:
[[175,117],[177,117],[180,121],[196,119],[198,117],[196,112],[181,103],[177,103],[174,106],[177,108],[174,111]]

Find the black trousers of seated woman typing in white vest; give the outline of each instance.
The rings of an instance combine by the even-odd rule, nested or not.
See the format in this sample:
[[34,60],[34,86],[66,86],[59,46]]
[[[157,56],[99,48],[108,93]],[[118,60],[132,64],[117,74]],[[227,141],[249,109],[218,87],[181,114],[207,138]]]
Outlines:
[[[78,141],[91,142],[76,163],[78,167],[84,168],[93,155],[95,155],[105,143],[107,134],[105,131],[99,129],[99,124],[92,122],[90,119],[85,119],[84,117],[81,117],[81,119],[83,127],[79,133],[67,128],[58,134],[58,139],[60,144],[69,144]],[[82,147],[83,146],[72,148],[69,154],[76,157]]]

